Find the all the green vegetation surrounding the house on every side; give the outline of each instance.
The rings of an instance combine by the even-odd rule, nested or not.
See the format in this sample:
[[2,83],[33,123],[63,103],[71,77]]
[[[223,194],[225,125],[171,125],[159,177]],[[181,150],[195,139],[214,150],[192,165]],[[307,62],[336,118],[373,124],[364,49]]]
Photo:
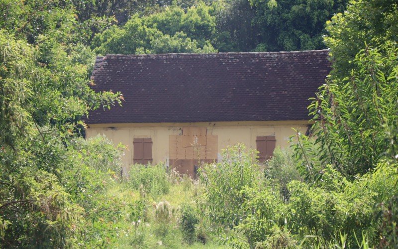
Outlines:
[[[0,0],[0,247],[395,247],[397,18],[395,0]],[[96,53],[326,46],[314,138],[266,165],[240,144],[199,181],[162,164],[122,180],[121,147],[82,138],[123,101],[91,90]]]

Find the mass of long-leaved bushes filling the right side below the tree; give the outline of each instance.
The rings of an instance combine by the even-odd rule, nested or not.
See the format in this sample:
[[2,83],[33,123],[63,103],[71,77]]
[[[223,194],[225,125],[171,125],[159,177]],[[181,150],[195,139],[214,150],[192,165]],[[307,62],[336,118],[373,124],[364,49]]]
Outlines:
[[[277,150],[264,183],[234,184],[240,187],[240,199],[229,201],[236,189],[228,184],[239,182],[239,174],[226,174],[226,180],[220,166],[231,161],[224,159],[218,167],[204,167],[204,183],[214,180],[211,185],[206,183],[200,204],[207,208],[205,217],[218,228],[215,232],[222,242],[236,248],[394,245],[397,223],[393,202],[398,195],[397,56],[394,42],[387,41],[377,48],[365,45],[351,62],[348,77],[332,71],[334,75],[309,106],[314,117],[314,138],[299,131],[295,136],[293,149],[301,181],[294,180],[295,170]],[[338,68],[341,64],[334,65]],[[250,171],[255,165],[251,162],[244,168]],[[291,173],[285,174],[285,167]],[[235,172],[233,167],[229,172]],[[212,177],[206,179],[207,174]],[[281,198],[279,190],[283,184],[289,198]],[[222,194],[225,189],[232,190],[227,197]],[[217,209],[220,200],[224,209]],[[240,218],[238,222],[230,218],[229,207]],[[218,214],[218,220],[211,214]]]

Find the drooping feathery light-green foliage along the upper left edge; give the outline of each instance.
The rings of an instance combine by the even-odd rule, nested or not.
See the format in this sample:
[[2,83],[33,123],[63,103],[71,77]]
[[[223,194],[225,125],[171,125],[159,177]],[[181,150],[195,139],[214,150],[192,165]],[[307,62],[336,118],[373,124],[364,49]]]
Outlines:
[[[0,30],[0,143],[11,147],[29,125],[27,98],[32,95],[29,71],[33,51],[25,42]],[[3,146],[3,145],[2,145]]]

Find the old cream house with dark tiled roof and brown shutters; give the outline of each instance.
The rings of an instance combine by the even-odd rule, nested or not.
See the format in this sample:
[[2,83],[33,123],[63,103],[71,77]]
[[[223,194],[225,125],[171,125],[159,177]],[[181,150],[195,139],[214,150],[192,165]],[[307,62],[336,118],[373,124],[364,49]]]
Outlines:
[[198,159],[220,159],[243,142],[264,161],[286,146],[292,127],[306,132],[307,106],[330,72],[328,50],[150,54],[97,57],[96,91],[120,91],[122,107],[96,110],[87,137],[128,146],[124,170],[158,163],[194,174]]

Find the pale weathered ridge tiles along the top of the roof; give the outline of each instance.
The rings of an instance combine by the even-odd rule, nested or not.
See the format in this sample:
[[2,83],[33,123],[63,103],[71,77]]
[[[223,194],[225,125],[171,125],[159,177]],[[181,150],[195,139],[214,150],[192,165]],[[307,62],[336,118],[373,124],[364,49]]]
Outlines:
[[[274,51],[274,52],[219,52],[219,53],[166,53],[166,54],[106,54],[104,57],[118,57],[118,58],[152,58],[152,57],[222,57],[222,56],[233,56],[233,55],[289,55],[289,54],[301,54],[301,53],[324,53],[329,52],[329,49],[319,49],[319,50],[302,50],[302,51]],[[100,56],[98,56],[100,57]]]

